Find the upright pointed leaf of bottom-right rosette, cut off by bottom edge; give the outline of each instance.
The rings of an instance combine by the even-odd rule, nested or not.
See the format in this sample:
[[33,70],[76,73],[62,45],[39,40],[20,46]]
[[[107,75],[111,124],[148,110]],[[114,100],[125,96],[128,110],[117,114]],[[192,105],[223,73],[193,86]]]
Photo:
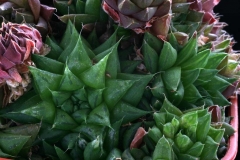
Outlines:
[[153,160],[174,159],[173,150],[169,141],[163,136],[159,139],[153,151]]

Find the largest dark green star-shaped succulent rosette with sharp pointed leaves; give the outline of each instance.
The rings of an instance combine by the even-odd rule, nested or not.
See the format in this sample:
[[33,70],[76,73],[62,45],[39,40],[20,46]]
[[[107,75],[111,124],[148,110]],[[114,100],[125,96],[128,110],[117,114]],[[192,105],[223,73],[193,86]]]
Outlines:
[[[71,49],[67,47],[72,43],[70,37],[77,41]],[[113,39],[114,35],[111,44],[106,41],[92,51],[69,22],[60,46],[48,39],[53,48],[48,56],[56,51],[58,57],[32,55],[37,68],[30,67],[30,71],[37,94],[21,97],[15,103],[19,107],[6,107],[1,117],[19,123],[41,121],[34,144],[43,155],[105,159],[118,145],[120,126],[150,113],[138,109],[137,104],[152,75],[121,73],[118,42],[115,39],[112,45]]]

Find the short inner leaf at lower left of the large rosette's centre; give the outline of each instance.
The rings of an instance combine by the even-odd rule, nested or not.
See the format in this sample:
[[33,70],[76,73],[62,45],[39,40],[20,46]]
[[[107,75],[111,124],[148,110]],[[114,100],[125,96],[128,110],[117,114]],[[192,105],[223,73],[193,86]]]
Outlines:
[[70,130],[77,127],[78,124],[66,112],[57,109],[52,128]]

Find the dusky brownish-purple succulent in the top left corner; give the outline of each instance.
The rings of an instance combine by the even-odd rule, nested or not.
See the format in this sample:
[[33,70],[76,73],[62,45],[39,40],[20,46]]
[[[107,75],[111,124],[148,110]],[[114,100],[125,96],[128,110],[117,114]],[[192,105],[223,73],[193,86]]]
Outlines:
[[40,3],[40,0],[9,0],[0,4],[3,21],[27,23],[37,28],[43,37],[50,32],[49,20],[55,8]]

